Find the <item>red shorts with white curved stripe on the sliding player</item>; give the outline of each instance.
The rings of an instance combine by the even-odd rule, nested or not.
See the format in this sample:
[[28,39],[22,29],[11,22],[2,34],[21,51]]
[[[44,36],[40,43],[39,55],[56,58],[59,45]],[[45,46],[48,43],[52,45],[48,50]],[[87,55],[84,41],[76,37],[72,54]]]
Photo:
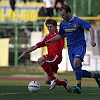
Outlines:
[[58,64],[61,63],[62,56],[46,54],[43,57],[46,59],[46,62],[50,65],[52,72],[57,73]]

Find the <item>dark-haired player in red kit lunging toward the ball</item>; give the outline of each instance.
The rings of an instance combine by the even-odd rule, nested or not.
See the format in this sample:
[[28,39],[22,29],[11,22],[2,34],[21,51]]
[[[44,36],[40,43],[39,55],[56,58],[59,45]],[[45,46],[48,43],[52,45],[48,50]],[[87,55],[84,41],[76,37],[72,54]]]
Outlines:
[[54,76],[54,73],[57,73],[58,64],[60,64],[62,61],[64,38],[61,38],[60,40],[53,42],[50,45],[46,45],[46,41],[58,35],[58,31],[56,20],[48,19],[46,20],[45,25],[49,31],[49,34],[43,37],[42,40],[36,45],[24,51],[18,59],[40,47],[47,46],[48,54],[45,54],[38,59],[38,63],[44,70],[45,83],[50,84],[50,89],[53,89],[56,85],[62,85],[68,92],[72,92],[71,88],[68,86],[68,81],[66,79],[58,80],[58,78]]

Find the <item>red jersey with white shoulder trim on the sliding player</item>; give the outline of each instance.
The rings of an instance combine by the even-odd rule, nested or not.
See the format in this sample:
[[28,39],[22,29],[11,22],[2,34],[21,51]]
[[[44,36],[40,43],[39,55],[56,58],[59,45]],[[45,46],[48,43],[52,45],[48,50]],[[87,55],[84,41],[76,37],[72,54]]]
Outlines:
[[[54,34],[47,34],[42,41],[40,41],[39,43],[37,43],[36,45],[38,47],[44,47],[47,46],[45,44],[45,42],[47,40],[52,39],[53,37],[55,37],[56,35],[58,35],[58,31],[56,31]],[[62,56],[62,49],[64,47],[64,38],[61,38],[58,41],[52,42],[49,46],[47,46],[47,51],[48,54],[53,54],[53,55],[59,55]]]

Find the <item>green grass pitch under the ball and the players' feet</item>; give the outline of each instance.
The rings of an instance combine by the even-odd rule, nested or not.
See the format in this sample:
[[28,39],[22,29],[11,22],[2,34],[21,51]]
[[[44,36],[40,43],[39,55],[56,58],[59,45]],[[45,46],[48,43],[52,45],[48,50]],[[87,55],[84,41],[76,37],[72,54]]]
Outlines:
[[[68,79],[72,89],[76,84],[72,72],[59,73],[58,78]],[[100,100],[100,88],[97,87],[93,79],[82,80],[81,94],[67,93],[62,86],[56,86],[53,90],[50,90],[49,86],[41,80],[38,80],[41,85],[40,91],[30,93],[27,89],[27,85],[30,81],[31,80],[0,80],[0,100]]]

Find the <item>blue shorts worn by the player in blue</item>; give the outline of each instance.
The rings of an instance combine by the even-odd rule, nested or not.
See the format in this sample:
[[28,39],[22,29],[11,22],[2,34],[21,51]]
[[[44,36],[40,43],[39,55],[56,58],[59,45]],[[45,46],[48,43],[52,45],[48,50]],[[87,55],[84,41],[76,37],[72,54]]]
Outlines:
[[[85,53],[86,53],[86,46],[84,45],[79,45],[76,47],[75,46],[68,47],[69,60],[73,69],[74,69],[73,60],[75,58],[81,58],[81,61],[83,62]],[[81,64],[81,67],[82,67],[82,64]]]

